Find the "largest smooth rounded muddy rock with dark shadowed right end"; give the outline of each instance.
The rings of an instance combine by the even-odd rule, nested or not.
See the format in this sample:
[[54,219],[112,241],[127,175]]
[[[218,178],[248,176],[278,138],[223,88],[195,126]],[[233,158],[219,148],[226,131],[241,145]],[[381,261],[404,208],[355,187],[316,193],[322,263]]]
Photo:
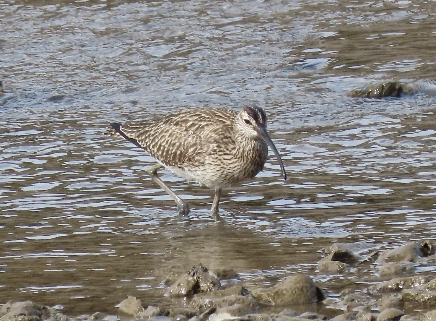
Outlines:
[[303,274],[287,277],[273,287],[252,290],[251,295],[262,304],[279,306],[316,303],[325,298],[313,280]]

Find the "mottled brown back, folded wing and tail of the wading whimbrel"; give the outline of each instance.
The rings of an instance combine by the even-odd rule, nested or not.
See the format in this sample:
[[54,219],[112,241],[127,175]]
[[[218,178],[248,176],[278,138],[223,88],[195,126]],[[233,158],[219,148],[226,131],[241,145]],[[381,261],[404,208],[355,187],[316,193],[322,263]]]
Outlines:
[[227,109],[197,109],[154,123],[127,122],[110,134],[132,141],[166,166],[201,166],[208,155],[221,150],[222,144],[234,146],[231,133],[235,115]]

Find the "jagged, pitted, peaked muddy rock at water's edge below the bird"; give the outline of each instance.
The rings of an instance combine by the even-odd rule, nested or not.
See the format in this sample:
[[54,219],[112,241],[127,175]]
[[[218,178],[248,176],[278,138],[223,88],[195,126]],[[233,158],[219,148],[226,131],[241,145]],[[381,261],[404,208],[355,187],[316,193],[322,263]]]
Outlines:
[[219,290],[221,283],[207,268],[202,264],[193,267],[191,271],[182,275],[171,287],[167,294],[170,296],[189,296],[201,292]]

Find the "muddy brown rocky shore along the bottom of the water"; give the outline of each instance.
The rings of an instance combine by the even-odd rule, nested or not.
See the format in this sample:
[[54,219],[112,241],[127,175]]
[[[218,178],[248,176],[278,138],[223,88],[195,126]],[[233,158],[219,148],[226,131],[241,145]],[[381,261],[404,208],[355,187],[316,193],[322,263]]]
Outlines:
[[[55,307],[32,301],[9,301],[0,321],[303,321],[303,320],[436,320],[436,279],[416,270],[436,263],[433,242],[410,242],[385,251],[362,250],[359,243],[334,243],[324,249],[319,273],[350,277],[371,270],[380,282],[326,293],[303,273],[272,287],[246,288],[231,268],[215,271],[203,265],[173,272],[165,280],[174,305],[146,306],[136,297],[118,305],[117,315],[95,312],[71,317]],[[358,282],[355,282],[358,283]],[[350,283],[351,284],[351,283]]]

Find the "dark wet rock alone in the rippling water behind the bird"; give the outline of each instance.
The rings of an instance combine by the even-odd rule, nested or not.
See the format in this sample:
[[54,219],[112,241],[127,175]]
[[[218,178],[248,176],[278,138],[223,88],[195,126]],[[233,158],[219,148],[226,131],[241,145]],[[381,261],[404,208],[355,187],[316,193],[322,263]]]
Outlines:
[[385,98],[401,97],[403,94],[412,94],[416,89],[412,85],[402,84],[401,82],[384,82],[372,84],[364,89],[354,89],[348,93],[351,97],[362,98]]

